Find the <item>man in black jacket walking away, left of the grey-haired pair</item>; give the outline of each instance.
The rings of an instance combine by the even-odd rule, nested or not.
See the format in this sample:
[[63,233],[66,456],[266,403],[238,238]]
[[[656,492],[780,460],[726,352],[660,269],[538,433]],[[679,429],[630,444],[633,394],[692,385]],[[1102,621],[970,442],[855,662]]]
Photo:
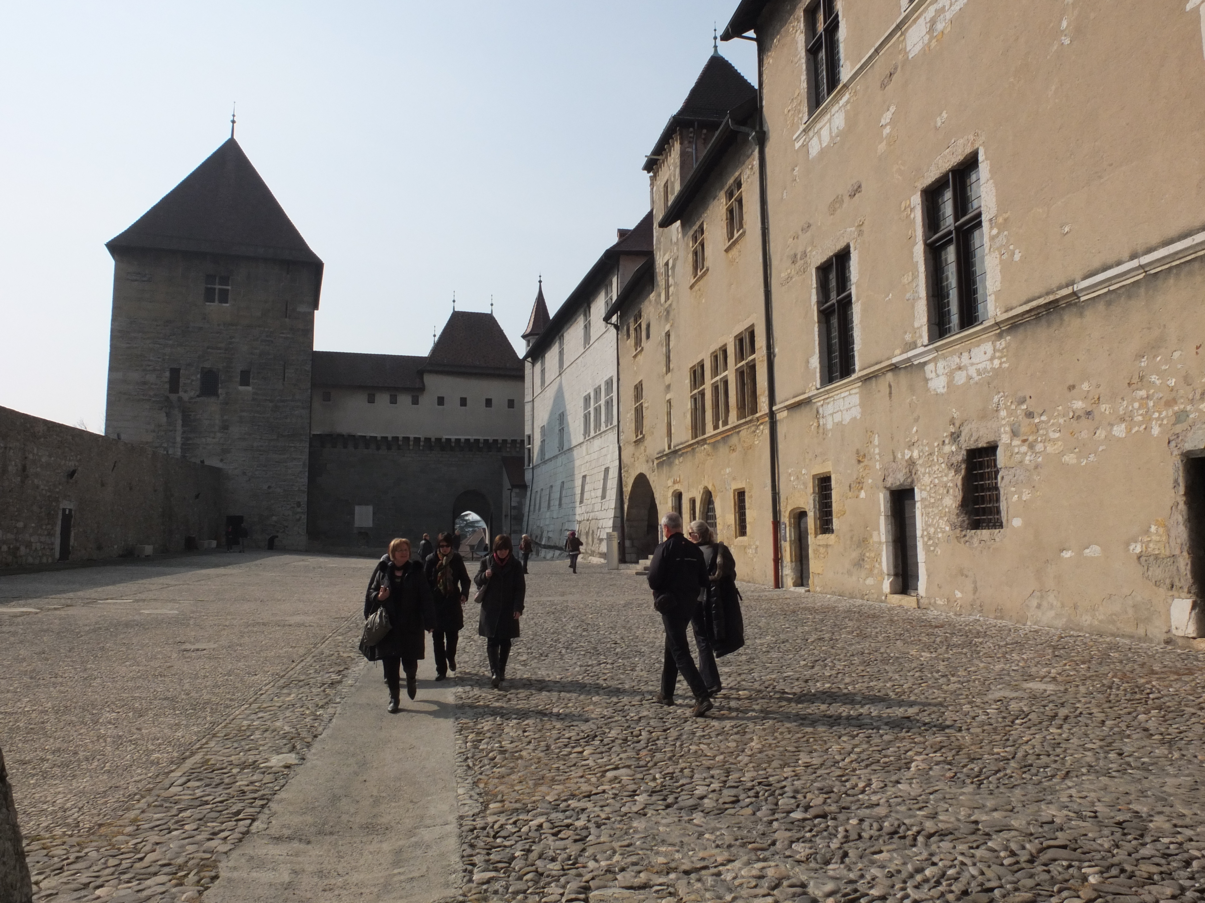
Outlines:
[[699,590],[707,585],[707,565],[703,551],[682,536],[682,515],[670,512],[662,518],[665,542],[657,547],[648,566],[648,586],[653,591],[653,607],[665,626],[665,661],[662,665],[662,690],[657,701],[674,704],[674,687],[678,672],[694,694],[690,714],[700,718],[712,708],[711,696],[690,656],[686,628],[699,604]]

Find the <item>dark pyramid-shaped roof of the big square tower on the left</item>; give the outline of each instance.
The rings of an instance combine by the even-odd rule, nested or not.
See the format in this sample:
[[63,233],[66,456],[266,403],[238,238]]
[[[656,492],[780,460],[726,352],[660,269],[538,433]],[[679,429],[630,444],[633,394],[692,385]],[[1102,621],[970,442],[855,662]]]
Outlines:
[[163,200],[106,246],[316,264],[251,160],[228,138]]

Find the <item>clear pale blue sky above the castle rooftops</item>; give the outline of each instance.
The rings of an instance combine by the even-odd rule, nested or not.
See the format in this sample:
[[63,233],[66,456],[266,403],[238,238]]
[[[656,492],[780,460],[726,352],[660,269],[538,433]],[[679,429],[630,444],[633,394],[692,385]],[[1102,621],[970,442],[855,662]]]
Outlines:
[[[315,347],[519,334],[648,209],[643,155],[736,0],[29,2],[0,33],[0,405],[101,431],[104,243],[237,138],[325,261]],[[756,81],[752,45],[721,45]]]

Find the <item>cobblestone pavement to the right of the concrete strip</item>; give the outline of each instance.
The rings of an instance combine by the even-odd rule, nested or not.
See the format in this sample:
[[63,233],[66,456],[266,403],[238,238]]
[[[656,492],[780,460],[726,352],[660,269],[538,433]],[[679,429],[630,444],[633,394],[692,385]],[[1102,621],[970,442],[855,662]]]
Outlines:
[[1205,896],[1199,653],[746,586],[692,719],[643,579],[564,571],[507,692],[463,645],[470,901]]

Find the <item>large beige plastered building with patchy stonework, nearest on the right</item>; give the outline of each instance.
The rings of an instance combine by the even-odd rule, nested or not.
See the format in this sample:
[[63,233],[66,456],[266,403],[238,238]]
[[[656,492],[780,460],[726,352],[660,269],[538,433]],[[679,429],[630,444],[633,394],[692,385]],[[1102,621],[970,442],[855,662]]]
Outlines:
[[1198,635],[1199,6],[739,5],[786,583]]

